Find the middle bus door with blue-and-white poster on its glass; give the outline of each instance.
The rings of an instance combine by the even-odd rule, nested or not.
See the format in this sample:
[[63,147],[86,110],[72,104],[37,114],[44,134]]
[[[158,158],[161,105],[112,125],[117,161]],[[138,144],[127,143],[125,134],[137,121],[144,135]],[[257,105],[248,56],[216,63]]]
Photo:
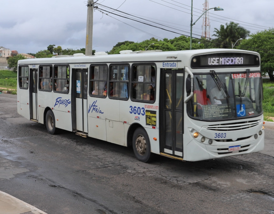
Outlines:
[[[87,133],[87,69],[72,69],[75,72],[76,130]],[[73,80],[72,80],[73,81]]]

